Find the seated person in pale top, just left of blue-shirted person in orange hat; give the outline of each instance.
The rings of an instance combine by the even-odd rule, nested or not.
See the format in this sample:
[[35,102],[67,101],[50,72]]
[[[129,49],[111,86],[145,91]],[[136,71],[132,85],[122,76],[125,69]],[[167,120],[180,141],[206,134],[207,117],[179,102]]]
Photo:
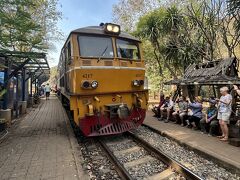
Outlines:
[[184,126],[184,117],[187,115],[187,109],[188,109],[188,104],[186,101],[186,98],[184,96],[179,97],[179,99],[176,101],[176,105],[174,112],[173,112],[173,117],[175,119],[175,123],[178,123],[178,117],[181,120],[181,126]]

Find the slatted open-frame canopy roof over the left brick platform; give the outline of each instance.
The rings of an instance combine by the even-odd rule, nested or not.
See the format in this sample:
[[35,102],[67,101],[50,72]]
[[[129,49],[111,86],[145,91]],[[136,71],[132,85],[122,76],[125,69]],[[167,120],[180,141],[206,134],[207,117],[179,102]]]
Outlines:
[[[6,63],[7,62],[7,63]],[[0,68],[11,69],[10,78],[24,68],[33,78],[44,80],[49,77],[50,68],[45,53],[0,50]]]

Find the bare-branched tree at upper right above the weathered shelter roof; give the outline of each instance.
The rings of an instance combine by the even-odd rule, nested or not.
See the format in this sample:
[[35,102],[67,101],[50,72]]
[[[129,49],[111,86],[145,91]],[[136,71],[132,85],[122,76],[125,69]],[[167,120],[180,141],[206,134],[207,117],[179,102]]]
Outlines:
[[236,56],[240,33],[233,29],[235,16],[229,15],[226,7],[221,0],[204,0],[197,7],[192,3],[187,6],[186,16],[202,35],[205,47],[202,55],[208,61],[223,57],[225,48],[228,57]]

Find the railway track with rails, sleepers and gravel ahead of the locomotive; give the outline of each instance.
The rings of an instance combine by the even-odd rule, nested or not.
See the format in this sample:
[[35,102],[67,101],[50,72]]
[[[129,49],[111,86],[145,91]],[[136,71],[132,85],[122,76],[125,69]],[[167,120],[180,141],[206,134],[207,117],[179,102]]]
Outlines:
[[131,132],[97,141],[122,179],[202,179]]

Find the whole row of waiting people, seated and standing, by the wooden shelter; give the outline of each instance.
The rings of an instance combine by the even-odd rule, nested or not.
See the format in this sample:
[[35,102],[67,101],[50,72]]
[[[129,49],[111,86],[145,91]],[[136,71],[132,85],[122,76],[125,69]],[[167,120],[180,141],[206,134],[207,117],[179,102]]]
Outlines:
[[[240,95],[236,85],[234,90]],[[218,135],[221,141],[228,141],[228,124],[232,114],[233,97],[229,94],[228,87],[222,87],[220,94],[220,99],[204,99],[196,96],[191,101],[190,98],[181,96],[175,102],[171,97],[164,97],[161,94],[159,106],[154,107],[153,112],[159,121],[168,123],[171,120],[181,126],[201,130],[203,134],[209,136]],[[203,108],[203,102],[208,102],[209,106]]]

